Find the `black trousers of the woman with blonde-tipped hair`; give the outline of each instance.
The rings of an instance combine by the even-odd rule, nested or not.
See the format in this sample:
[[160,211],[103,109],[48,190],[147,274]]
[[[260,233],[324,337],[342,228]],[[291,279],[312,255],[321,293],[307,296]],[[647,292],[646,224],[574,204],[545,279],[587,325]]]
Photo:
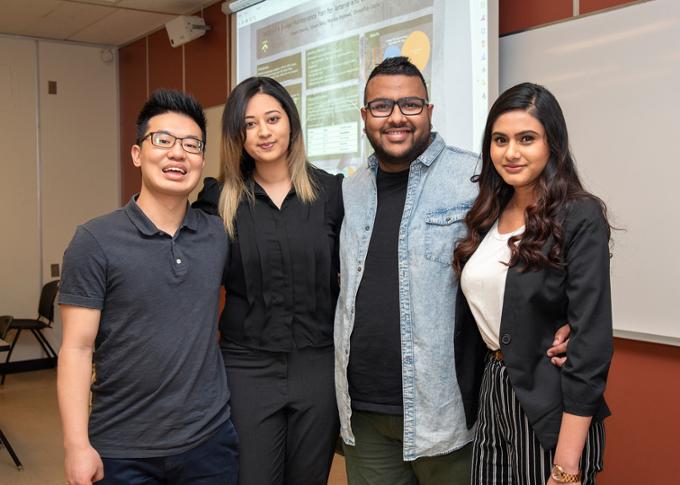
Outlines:
[[267,352],[223,343],[239,485],[326,485],[339,419],[333,347]]

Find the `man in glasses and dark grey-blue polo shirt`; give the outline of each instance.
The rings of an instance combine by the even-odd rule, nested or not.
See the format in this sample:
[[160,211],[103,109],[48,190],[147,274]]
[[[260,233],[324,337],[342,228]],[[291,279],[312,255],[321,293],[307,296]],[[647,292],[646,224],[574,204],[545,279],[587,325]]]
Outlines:
[[57,388],[71,485],[236,483],[216,337],[227,236],[187,202],[205,124],[190,96],[154,92],[131,151],[139,195],[79,226],[64,255]]

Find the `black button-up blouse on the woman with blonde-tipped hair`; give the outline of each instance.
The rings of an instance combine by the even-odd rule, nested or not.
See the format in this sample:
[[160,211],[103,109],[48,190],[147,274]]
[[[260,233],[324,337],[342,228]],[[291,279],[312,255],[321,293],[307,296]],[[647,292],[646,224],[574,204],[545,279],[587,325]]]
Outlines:
[[[342,176],[311,169],[317,198],[295,189],[281,209],[254,180],[254,200],[241,201],[222,283],[223,341],[267,351],[333,344],[338,297],[338,236],[344,215]],[[206,178],[194,207],[218,214],[222,184]]]

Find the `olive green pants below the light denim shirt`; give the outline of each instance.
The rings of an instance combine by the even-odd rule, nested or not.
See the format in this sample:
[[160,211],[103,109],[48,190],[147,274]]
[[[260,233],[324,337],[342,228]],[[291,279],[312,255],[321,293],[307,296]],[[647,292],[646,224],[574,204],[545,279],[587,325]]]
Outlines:
[[472,444],[446,455],[403,460],[403,416],[352,411],[356,446],[344,444],[349,485],[468,485]]

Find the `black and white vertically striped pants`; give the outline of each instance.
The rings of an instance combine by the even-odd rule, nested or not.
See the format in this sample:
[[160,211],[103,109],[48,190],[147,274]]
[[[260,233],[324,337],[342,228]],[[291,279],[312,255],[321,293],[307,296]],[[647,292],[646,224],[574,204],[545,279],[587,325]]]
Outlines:
[[[502,362],[489,356],[472,450],[473,485],[544,485],[555,450],[544,450],[512,389]],[[592,423],[581,455],[582,485],[602,470],[604,425]]]

